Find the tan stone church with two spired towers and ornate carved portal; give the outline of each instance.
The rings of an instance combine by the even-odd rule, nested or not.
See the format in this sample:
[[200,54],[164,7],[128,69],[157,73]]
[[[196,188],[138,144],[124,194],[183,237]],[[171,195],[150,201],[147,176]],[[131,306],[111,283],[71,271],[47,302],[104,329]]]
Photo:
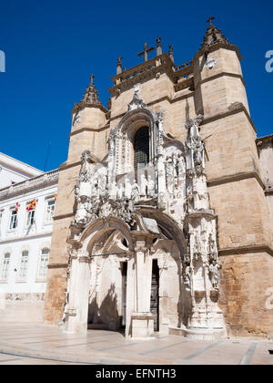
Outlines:
[[108,109],[94,76],[75,104],[46,323],[273,335],[272,138],[257,140],[238,47],[208,23],[190,63],[158,37],[140,65],[118,57]]

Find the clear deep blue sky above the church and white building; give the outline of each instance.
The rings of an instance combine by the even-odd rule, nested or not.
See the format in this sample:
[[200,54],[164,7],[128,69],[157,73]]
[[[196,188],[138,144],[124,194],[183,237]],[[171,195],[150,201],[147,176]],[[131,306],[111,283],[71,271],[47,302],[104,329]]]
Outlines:
[[[4,3],[4,2],[3,2]],[[46,171],[67,158],[71,109],[95,74],[106,106],[116,58],[124,67],[141,62],[143,44],[174,47],[175,62],[191,60],[203,41],[207,17],[238,46],[248,102],[258,136],[273,133],[273,72],[265,70],[273,50],[272,1],[16,1],[1,5],[0,151]]]

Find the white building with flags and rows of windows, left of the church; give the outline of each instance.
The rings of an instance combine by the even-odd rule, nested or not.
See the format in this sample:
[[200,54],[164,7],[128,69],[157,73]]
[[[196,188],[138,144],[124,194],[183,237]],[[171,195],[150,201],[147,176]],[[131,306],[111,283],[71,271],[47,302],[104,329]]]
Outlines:
[[[3,154],[0,163],[0,185],[8,185],[0,189],[0,321],[16,321],[18,316],[21,321],[39,321],[58,171],[44,173]],[[34,200],[35,209],[27,212]]]

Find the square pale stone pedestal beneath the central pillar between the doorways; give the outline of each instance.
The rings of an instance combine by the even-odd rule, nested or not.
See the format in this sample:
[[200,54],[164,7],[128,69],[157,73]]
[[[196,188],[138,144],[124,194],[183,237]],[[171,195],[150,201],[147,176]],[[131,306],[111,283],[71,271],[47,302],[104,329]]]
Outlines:
[[154,336],[154,316],[149,313],[132,315],[132,338],[148,338]]

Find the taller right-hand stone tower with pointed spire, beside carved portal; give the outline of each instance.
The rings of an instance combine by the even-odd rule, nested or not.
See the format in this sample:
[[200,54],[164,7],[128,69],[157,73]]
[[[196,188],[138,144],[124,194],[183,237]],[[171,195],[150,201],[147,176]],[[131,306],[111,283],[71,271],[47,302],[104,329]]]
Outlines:
[[213,20],[207,20],[193,70],[195,106],[204,116],[207,186],[218,217],[220,305],[231,334],[261,335],[270,331],[265,301],[272,285],[272,228],[241,56]]

